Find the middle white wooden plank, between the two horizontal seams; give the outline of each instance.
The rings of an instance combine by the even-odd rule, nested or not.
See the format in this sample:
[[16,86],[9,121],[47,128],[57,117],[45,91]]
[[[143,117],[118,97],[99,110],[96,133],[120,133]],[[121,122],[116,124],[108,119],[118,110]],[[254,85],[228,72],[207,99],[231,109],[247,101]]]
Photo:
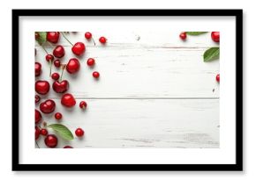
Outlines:
[[[43,67],[41,77],[49,78],[49,64],[45,53],[37,48],[36,61]],[[48,51],[51,48],[48,48]],[[65,47],[66,63],[74,57],[71,47]],[[219,73],[219,61],[204,62],[202,54],[206,48],[162,48],[162,47],[88,47],[80,57],[79,73],[64,79],[71,84],[70,92],[75,97],[115,98],[194,98],[219,97],[219,84],[215,81]],[[96,66],[88,68],[87,58],[94,57]],[[53,72],[60,72],[55,67]],[[92,72],[101,73],[95,81]],[[59,97],[51,90],[49,97]]]

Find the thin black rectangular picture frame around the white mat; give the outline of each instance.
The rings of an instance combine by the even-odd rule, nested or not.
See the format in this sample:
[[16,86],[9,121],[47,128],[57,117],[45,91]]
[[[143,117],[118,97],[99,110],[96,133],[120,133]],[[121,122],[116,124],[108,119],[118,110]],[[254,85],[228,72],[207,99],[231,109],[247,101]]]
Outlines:
[[[19,17],[41,16],[230,16],[236,17],[235,164],[20,164]],[[240,171],[243,170],[243,10],[12,10],[12,170],[14,171]]]

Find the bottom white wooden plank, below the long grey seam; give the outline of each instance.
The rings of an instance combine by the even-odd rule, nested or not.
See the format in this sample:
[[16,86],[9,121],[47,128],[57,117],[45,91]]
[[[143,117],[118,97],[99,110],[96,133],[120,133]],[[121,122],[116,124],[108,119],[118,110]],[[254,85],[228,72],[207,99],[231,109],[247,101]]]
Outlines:
[[[59,139],[57,148],[219,148],[218,99],[84,100],[86,111],[66,109],[56,99],[60,123],[85,130],[83,139]],[[43,117],[56,123],[53,114]],[[38,143],[45,148],[42,137]]]

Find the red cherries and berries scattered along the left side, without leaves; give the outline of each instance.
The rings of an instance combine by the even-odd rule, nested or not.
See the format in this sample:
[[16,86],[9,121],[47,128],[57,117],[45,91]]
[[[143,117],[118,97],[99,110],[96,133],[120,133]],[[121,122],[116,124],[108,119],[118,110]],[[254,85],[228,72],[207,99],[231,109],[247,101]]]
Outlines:
[[[47,32],[46,40],[49,43],[56,44],[59,41],[60,35],[64,36],[64,32]],[[40,38],[40,34],[38,32],[35,32],[35,40],[38,40]],[[87,40],[93,40],[92,33],[86,32],[85,38]],[[66,37],[64,36],[64,39]],[[67,40],[67,39],[66,39]],[[107,39],[105,37],[101,37],[99,41],[102,44],[105,44],[107,42]],[[68,40],[68,42],[70,42]],[[71,43],[71,42],[70,42]],[[71,43],[72,44],[72,43]],[[95,42],[94,42],[95,45]],[[43,47],[44,48],[44,47]],[[77,42],[74,45],[72,45],[72,53],[76,56],[81,56],[86,51],[86,46],[83,42]],[[45,50],[47,53],[47,51]],[[69,74],[76,74],[79,71],[80,68],[80,62],[77,58],[71,58],[67,64],[62,64],[61,60],[59,58],[63,58],[65,54],[64,47],[61,45],[57,45],[54,49],[52,54],[48,54],[45,56],[46,61],[51,65],[54,64],[56,68],[62,68],[62,75],[64,73],[64,70],[66,70]],[[35,49],[35,55],[36,55],[36,49]],[[56,59],[55,59],[56,58]],[[87,60],[87,65],[89,67],[93,67],[95,64],[94,58],[89,58]],[[35,76],[41,76],[42,67],[40,62],[35,62],[34,64],[34,72]],[[62,93],[61,97],[61,104],[64,105],[64,107],[72,108],[76,104],[75,98],[72,96],[71,93],[66,93],[66,91],[69,89],[69,82],[67,80],[62,80],[62,75],[60,76],[58,73],[51,73],[50,70],[50,76],[54,80],[54,83],[52,83],[52,90],[54,90],[56,93]],[[93,72],[94,78],[99,78],[100,73],[97,71]],[[35,91],[39,95],[46,95],[49,93],[50,90],[50,84],[46,80],[37,80],[35,81]],[[41,97],[36,94],[35,95],[35,104],[38,104],[41,101]],[[49,114],[52,112],[55,112],[56,109],[56,103],[52,99],[47,99],[44,102],[41,102],[39,105],[40,111],[44,114]],[[87,108],[87,103],[85,101],[81,101],[79,103],[79,107],[81,109]],[[40,123],[42,119],[41,112],[35,109],[35,140],[38,140],[40,135],[45,136],[44,142],[45,145],[49,148],[56,148],[57,146],[57,137],[55,134],[49,134],[47,128],[41,128]],[[63,115],[60,112],[55,113],[55,119],[60,120],[62,119]],[[43,121],[42,125],[46,127],[46,122]],[[81,137],[84,135],[84,131],[81,128],[77,128],[75,131],[75,134],[78,137]],[[72,148],[71,146],[65,146],[64,148]]]

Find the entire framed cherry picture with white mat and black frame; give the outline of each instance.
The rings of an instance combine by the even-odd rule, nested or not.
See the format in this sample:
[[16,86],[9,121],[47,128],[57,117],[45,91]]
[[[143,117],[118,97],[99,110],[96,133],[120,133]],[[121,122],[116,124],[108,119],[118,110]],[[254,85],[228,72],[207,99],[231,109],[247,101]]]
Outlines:
[[12,170],[242,170],[242,47],[242,10],[12,10]]

